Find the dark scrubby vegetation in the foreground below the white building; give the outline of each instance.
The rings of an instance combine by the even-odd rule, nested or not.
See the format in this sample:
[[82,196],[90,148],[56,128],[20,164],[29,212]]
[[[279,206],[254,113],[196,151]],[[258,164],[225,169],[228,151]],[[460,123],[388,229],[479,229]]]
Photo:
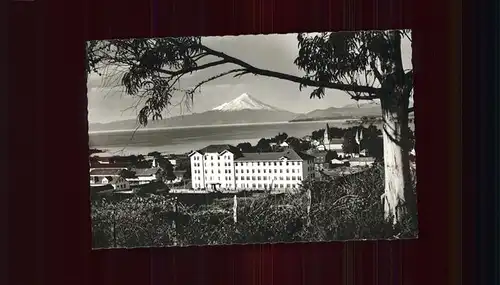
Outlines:
[[95,200],[93,247],[416,237],[417,217],[395,227],[384,221],[383,193],[383,167],[374,166],[332,181],[306,181],[300,194],[240,197],[236,221],[233,198],[195,204],[160,195]]

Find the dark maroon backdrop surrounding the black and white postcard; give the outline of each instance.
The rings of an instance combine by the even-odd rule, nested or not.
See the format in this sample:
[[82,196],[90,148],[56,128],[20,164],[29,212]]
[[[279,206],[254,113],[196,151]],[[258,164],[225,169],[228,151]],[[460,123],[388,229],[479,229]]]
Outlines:
[[[460,92],[454,73],[460,69],[455,32],[460,6],[455,1],[35,0],[9,5],[6,106],[8,121],[15,124],[6,136],[8,191],[2,208],[8,209],[3,215],[8,280],[0,283],[458,284]],[[85,40],[389,28],[414,31],[422,166],[418,240],[91,251]],[[447,127],[437,128],[437,121]]]

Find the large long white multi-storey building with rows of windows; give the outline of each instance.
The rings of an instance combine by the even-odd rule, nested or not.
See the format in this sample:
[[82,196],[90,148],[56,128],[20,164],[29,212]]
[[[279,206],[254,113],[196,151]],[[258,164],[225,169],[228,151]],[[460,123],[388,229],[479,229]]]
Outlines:
[[231,145],[210,145],[189,157],[193,189],[296,189],[314,175],[314,157],[293,149],[242,153]]

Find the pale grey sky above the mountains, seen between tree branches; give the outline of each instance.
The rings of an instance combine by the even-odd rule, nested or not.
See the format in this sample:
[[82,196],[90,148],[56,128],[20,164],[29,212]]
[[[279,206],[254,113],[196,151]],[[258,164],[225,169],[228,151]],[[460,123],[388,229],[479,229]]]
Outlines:
[[[302,76],[303,73],[293,63],[298,55],[297,34],[286,35],[244,35],[231,37],[206,37],[202,39],[206,46],[239,58],[253,66],[273,71]],[[411,43],[403,41],[403,65],[411,68]],[[186,76],[181,81],[183,88],[227,71],[234,66],[225,65],[205,69]],[[90,74],[88,86],[88,121],[89,123],[107,123],[118,120],[135,119],[140,106],[138,100],[127,95],[120,86],[119,76],[108,69],[104,76]],[[201,113],[229,102],[242,93],[272,106],[295,113],[307,113],[316,109],[341,107],[355,103],[349,95],[338,90],[327,90],[322,99],[310,99],[311,89],[299,91],[299,84],[280,79],[254,75],[240,78],[226,76],[202,86],[201,92],[194,95],[194,105],[187,110],[181,102],[182,94],[174,96],[174,106],[165,117]],[[139,103],[139,105],[138,105]]]

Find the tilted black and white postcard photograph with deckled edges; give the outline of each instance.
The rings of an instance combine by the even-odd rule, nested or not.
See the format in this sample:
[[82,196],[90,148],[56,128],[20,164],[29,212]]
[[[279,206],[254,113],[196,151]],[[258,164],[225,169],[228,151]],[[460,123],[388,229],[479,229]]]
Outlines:
[[411,30],[86,48],[94,249],[418,238]]

